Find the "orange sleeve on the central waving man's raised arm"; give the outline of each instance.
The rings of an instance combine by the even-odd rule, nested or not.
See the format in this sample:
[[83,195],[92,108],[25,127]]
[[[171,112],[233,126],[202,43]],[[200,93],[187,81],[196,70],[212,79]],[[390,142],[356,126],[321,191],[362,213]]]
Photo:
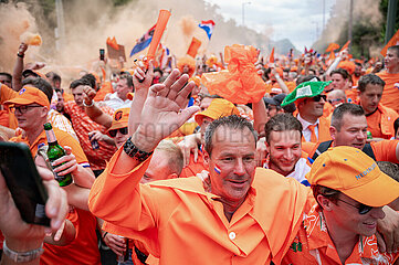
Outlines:
[[115,174],[114,167],[122,151],[123,148],[119,148],[115,152],[104,172],[95,180],[88,197],[88,208],[104,221],[132,231],[155,229],[156,208],[148,192],[141,192],[141,189],[149,187],[139,184],[150,158],[127,173]]

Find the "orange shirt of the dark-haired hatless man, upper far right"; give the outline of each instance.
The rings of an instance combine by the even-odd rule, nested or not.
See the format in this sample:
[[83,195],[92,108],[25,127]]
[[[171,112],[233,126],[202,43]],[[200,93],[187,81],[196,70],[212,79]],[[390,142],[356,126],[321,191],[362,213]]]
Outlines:
[[372,137],[390,139],[395,136],[393,123],[399,117],[398,113],[391,108],[378,105],[377,110],[367,116],[367,129]]

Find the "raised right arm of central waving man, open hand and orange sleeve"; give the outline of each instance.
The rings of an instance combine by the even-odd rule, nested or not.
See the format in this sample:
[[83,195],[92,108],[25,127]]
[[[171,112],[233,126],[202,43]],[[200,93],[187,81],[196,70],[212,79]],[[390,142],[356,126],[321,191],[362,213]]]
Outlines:
[[[179,128],[198,110],[198,107],[185,108],[187,96],[195,87],[195,83],[189,82],[186,85],[188,75],[179,76],[180,72],[175,70],[164,84],[156,84],[149,88],[140,112],[140,125],[125,144],[129,146],[127,149],[132,151],[137,148],[141,152],[151,152],[160,140]],[[151,227],[155,225],[151,212],[156,211],[156,205],[147,203],[148,198],[144,198],[145,194],[141,193],[144,188],[139,187],[149,159],[143,162],[139,156],[134,156],[136,152],[130,153],[133,157],[120,148],[114,155],[104,173],[92,187],[88,206],[93,214],[111,223],[134,227],[139,222],[141,229]],[[133,219],[128,218],[132,216],[132,212],[136,212]]]

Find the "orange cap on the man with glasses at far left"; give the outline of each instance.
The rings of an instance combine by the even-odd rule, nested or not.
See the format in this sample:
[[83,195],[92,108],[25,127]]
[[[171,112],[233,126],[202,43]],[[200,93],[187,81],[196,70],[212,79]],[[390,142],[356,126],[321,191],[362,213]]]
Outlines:
[[10,105],[10,104],[29,105],[33,103],[36,103],[50,109],[50,102],[48,96],[44,94],[44,92],[33,86],[22,87],[21,91],[18,93],[18,95],[14,98],[4,102],[4,105]]

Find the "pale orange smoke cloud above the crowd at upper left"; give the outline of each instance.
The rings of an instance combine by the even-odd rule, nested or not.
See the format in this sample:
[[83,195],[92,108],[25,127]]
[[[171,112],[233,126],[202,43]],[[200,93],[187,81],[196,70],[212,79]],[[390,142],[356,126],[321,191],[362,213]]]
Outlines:
[[[160,9],[171,11],[167,30],[161,42],[177,56],[183,56],[192,36],[202,42],[199,54],[219,54],[225,45],[251,44],[263,51],[269,49],[269,35],[254,30],[238,26],[235,21],[225,21],[218,12],[219,7],[203,0],[133,0],[128,4],[114,7],[106,0],[69,0],[63,1],[65,22],[65,45],[55,50],[54,26],[56,26],[55,9],[46,13],[53,24],[43,24],[43,10],[36,0],[27,3],[0,4],[0,70],[12,71],[15,53],[20,44],[20,35],[24,32],[41,34],[43,45],[30,46],[25,63],[45,61],[48,70],[61,74],[73,72],[77,75],[82,68],[90,70],[98,59],[98,49],[106,46],[108,36],[115,36],[125,45],[128,57],[136,40],[139,39],[157,20]],[[211,40],[198,26],[201,20],[213,20],[216,28]],[[40,25],[40,26],[38,26]],[[269,33],[269,32],[267,32]],[[141,52],[145,54],[145,52]],[[139,54],[138,54],[139,55]],[[132,65],[129,59],[126,66]]]

